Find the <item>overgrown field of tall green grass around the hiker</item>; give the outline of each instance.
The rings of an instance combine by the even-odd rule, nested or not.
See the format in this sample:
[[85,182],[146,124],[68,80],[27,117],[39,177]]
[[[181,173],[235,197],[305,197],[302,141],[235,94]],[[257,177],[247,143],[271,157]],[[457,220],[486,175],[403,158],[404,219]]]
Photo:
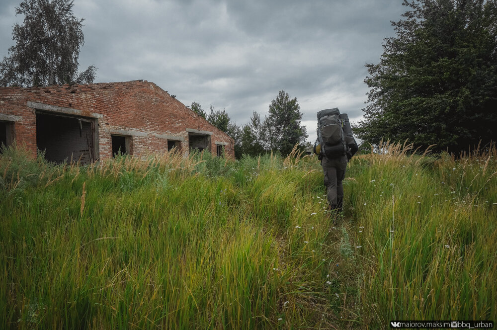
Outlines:
[[[4,329],[386,329],[495,320],[497,151],[88,166],[0,156]],[[478,155],[478,156],[477,156]]]

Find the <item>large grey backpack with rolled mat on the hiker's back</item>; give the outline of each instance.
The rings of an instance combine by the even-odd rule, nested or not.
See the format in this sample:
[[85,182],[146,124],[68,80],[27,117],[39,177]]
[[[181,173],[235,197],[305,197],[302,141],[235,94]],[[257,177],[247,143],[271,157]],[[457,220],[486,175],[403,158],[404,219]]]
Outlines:
[[352,156],[348,146],[356,142],[346,113],[340,114],[338,108],[319,111],[316,132],[318,140],[314,145],[315,154],[327,158]]

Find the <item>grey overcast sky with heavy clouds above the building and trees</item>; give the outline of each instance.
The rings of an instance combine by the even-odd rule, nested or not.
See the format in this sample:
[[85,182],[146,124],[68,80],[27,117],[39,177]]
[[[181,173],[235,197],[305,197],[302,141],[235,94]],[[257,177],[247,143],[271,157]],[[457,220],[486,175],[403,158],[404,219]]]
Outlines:
[[[0,57],[13,44],[14,7],[0,1]],[[75,0],[84,18],[80,70],[96,83],[143,79],[190,105],[225,108],[237,124],[263,119],[278,91],[297,97],[309,141],[316,112],[352,121],[367,100],[366,63],[378,63],[402,0]]]

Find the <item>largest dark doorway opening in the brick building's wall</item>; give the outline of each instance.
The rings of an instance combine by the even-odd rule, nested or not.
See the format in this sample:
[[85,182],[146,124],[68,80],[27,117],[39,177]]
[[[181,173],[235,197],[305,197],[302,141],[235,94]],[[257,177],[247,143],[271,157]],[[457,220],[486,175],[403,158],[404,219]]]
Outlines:
[[94,121],[87,118],[36,113],[36,147],[55,163],[95,160]]

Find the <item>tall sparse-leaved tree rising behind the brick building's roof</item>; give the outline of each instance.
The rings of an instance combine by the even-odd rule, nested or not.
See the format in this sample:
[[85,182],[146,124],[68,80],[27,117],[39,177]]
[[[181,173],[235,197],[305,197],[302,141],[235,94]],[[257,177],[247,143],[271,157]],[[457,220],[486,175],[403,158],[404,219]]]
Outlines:
[[1,85],[93,82],[94,66],[78,74],[83,19],[72,8],[73,0],[23,0],[15,8],[24,21],[13,26],[15,45],[0,63]]

